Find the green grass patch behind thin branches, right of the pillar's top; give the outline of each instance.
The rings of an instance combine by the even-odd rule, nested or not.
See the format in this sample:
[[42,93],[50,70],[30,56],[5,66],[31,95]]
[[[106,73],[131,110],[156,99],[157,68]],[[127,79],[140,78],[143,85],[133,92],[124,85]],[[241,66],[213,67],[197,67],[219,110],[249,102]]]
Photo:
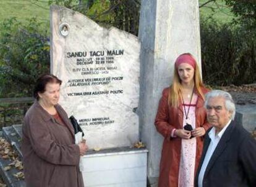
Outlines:
[[[199,5],[207,2],[208,0],[199,0]],[[216,22],[228,23],[231,22],[234,18],[231,9],[226,6],[225,2],[218,0],[215,2],[209,2],[207,5],[200,8],[200,17],[207,19],[212,17]]]

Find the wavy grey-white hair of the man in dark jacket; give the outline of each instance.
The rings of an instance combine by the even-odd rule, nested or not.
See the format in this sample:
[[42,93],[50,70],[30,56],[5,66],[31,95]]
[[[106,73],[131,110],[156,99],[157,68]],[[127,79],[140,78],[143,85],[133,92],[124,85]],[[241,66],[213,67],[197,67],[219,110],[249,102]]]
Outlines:
[[205,95],[205,108],[208,105],[208,101],[212,97],[222,97],[225,100],[225,107],[228,111],[232,112],[231,119],[234,120],[234,116],[236,114],[236,105],[234,104],[232,96],[223,90],[212,90]]

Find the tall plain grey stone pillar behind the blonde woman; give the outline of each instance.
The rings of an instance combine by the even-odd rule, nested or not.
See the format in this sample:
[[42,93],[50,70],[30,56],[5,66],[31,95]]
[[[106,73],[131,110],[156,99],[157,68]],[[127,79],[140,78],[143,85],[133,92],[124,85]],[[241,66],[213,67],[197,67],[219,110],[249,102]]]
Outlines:
[[200,63],[197,0],[143,0],[140,10],[140,137],[149,149],[148,177],[158,177],[163,137],[154,120],[164,87],[171,84],[174,60],[190,52]]

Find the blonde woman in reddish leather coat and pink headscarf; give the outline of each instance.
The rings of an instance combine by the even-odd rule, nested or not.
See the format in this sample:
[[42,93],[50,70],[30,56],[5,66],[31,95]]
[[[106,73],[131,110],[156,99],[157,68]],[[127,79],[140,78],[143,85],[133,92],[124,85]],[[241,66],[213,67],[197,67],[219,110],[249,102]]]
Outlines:
[[203,138],[210,127],[203,108],[203,86],[197,62],[180,55],[171,86],[163,90],[155,125],[164,137],[159,187],[194,186],[194,174],[202,154]]

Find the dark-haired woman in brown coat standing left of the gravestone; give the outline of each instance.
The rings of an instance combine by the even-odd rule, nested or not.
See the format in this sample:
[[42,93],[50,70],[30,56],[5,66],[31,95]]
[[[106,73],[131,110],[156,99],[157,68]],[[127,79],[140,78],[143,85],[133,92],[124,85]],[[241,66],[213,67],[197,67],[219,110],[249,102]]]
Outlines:
[[58,105],[61,80],[53,74],[38,78],[33,105],[22,128],[22,154],[27,187],[82,187],[79,159],[85,141],[75,145],[74,129]]

